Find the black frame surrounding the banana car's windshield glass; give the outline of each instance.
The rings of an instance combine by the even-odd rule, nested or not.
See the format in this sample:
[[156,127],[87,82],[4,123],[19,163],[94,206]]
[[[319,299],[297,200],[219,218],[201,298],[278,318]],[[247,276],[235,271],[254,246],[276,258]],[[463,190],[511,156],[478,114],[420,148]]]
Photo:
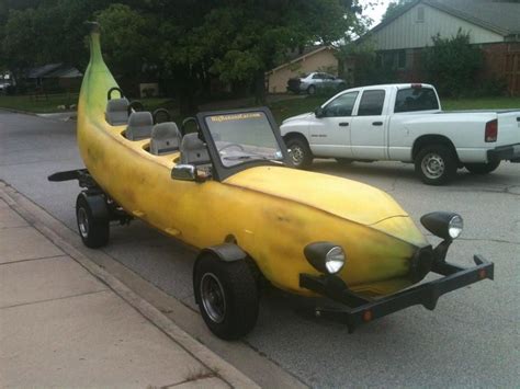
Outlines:
[[[268,123],[271,127],[271,130],[274,135],[276,144],[280,147],[280,151],[282,152],[282,159],[279,162],[274,162],[271,160],[263,160],[263,159],[253,159],[253,160],[245,160],[240,161],[240,163],[225,167],[221,160],[218,149],[216,147],[215,140],[212,137],[212,133],[210,127],[206,123],[206,117],[215,116],[215,115],[234,115],[234,114],[242,114],[242,113],[263,113],[268,119]],[[244,170],[255,168],[255,167],[291,167],[291,159],[289,157],[287,147],[282,139],[282,135],[280,133],[280,128],[274,121],[274,117],[271,111],[265,107],[252,107],[252,108],[242,108],[242,110],[228,110],[228,111],[210,111],[210,112],[201,112],[196,115],[196,121],[199,122],[199,128],[202,133],[202,137],[207,145],[207,151],[210,152],[210,158],[213,163],[213,176],[217,181],[224,181],[227,178],[237,174]]]

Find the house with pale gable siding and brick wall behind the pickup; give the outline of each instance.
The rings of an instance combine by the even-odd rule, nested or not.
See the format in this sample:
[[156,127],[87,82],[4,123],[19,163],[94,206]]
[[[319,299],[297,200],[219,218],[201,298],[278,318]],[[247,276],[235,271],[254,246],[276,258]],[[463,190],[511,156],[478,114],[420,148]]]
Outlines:
[[372,28],[369,36],[381,62],[400,81],[421,81],[421,52],[431,37],[467,33],[484,53],[483,79],[504,79],[511,94],[520,93],[520,1],[415,0]]

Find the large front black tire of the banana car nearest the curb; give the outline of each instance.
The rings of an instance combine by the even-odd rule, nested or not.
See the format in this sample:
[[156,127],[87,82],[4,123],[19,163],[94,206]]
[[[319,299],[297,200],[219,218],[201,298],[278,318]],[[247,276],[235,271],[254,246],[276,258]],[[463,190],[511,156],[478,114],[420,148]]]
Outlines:
[[203,254],[193,272],[195,300],[208,329],[224,340],[250,332],[257,323],[259,290],[248,263]]

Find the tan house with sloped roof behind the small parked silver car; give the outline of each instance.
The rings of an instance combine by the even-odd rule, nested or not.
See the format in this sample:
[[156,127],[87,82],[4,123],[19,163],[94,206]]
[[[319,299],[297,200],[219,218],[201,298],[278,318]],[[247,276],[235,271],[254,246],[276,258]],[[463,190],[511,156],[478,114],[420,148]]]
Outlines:
[[330,46],[310,46],[302,52],[293,52],[289,60],[265,73],[267,90],[269,93],[284,93],[287,91],[290,78],[313,71],[338,73],[338,58],[335,48]]

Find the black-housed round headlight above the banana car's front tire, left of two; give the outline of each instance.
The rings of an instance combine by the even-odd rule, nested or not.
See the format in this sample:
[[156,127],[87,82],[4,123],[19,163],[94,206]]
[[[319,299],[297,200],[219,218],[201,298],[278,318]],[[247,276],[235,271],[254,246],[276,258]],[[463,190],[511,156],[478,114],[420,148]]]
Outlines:
[[304,249],[305,258],[318,272],[337,274],[347,260],[343,249],[331,242],[310,243]]

